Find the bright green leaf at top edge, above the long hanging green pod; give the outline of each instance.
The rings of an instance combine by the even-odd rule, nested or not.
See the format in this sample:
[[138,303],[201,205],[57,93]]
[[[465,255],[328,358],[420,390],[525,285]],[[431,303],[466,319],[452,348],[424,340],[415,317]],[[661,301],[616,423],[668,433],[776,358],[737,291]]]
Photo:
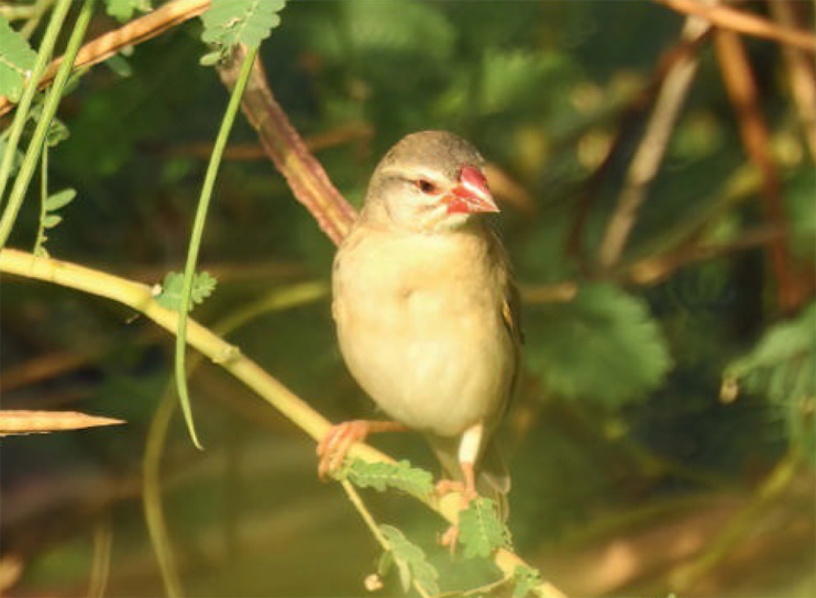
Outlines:
[[285,5],[285,0],[212,0],[201,15],[201,40],[222,47],[257,47],[280,23],[278,12]]

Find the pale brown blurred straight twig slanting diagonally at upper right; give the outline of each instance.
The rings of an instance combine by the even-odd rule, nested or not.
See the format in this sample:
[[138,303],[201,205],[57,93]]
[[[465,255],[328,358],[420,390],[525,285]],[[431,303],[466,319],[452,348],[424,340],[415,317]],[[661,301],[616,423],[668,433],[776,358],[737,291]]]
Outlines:
[[[708,29],[709,25],[705,21],[690,16],[681,37],[691,42],[705,35]],[[635,226],[638,210],[646,200],[649,186],[663,159],[669,137],[696,71],[697,58],[688,55],[675,63],[674,68],[663,80],[643,137],[629,165],[617,207],[600,242],[598,264],[603,269],[613,267],[620,258],[629,233]]]

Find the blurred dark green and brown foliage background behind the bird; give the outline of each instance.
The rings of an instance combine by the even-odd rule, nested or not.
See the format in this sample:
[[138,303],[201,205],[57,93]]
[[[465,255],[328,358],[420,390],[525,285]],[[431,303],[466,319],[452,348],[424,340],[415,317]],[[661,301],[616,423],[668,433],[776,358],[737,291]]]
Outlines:
[[[811,2],[739,8],[784,24],[774,3],[813,26]],[[98,8],[91,35],[119,26]],[[272,89],[354,204],[411,131],[455,131],[490,163],[525,299],[525,383],[503,430],[516,551],[575,596],[816,596],[814,123],[792,91],[807,85],[793,46],[740,37],[735,63],[716,35],[683,46],[685,18],[650,2],[301,1],[280,15],[262,47]],[[139,44],[64,98],[49,185],[77,198],[49,230],[52,256],[148,284],[180,269],[228,98],[198,64],[200,30]],[[677,56],[696,73],[624,251],[605,261]],[[735,108],[724,82],[740,65],[753,108]],[[743,143],[757,119],[770,168]],[[211,326],[328,280],[334,251],[244,121],[227,158],[200,262],[219,287],[194,312]],[[33,247],[31,195],[11,246]],[[342,364],[329,301],[258,308],[229,340],[330,419],[376,416]],[[128,421],[2,440],[5,591],[163,595],[141,498],[172,337],[103,299],[8,275],[0,309],[4,409]],[[365,594],[379,549],[339,487],[318,481],[311,442],[212,364],[190,385],[207,450],[176,417],[162,454],[185,591]],[[418,436],[374,444],[435,467]],[[443,589],[489,579],[488,564],[433,547],[432,513],[365,497],[432,554]],[[386,582],[381,594],[400,594]]]

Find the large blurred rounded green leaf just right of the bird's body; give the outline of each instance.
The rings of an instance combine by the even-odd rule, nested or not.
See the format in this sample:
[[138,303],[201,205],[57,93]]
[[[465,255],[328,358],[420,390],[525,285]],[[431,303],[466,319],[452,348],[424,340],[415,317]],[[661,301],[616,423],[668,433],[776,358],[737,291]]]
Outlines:
[[527,322],[541,339],[527,353],[530,367],[551,394],[618,407],[655,388],[672,365],[647,303],[613,285],[582,287]]

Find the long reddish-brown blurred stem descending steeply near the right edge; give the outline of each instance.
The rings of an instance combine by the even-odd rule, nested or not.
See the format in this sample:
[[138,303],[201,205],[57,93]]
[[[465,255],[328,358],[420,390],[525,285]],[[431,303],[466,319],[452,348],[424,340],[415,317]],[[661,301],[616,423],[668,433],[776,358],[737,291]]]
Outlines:
[[[785,207],[780,177],[770,152],[768,124],[760,110],[759,90],[751,73],[742,41],[732,31],[715,31],[715,47],[723,79],[738,119],[742,144],[749,159],[762,175],[761,197],[765,218],[772,226],[785,229]],[[774,239],[768,245],[771,268],[779,286],[779,302],[786,312],[802,304],[808,295],[806,279],[794,273],[794,266],[784,239]]]

